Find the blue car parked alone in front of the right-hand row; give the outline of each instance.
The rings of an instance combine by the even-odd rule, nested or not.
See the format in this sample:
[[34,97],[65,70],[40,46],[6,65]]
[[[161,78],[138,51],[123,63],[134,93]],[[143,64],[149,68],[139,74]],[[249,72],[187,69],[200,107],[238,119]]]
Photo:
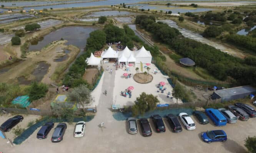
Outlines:
[[211,143],[222,141],[225,142],[227,138],[227,134],[223,130],[212,130],[202,133],[201,135],[204,142]]

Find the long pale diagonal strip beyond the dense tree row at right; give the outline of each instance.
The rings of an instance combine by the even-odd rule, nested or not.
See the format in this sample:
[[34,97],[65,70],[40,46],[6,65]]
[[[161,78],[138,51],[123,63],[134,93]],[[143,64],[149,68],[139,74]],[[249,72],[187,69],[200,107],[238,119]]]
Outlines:
[[221,52],[225,52],[229,55],[233,55],[235,57],[239,57],[239,58],[243,58],[243,57],[246,57],[244,54],[242,54],[241,52],[237,52],[233,49],[230,49],[230,48],[227,48],[221,44],[218,44],[216,42],[213,42],[213,41],[210,41],[206,38],[204,38],[203,36],[201,36],[200,34],[197,34],[197,33],[193,33],[191,32],[190,30],[188,29],[184,29],[184,28],[180,28],[176,22],[172,21],[172,20],[158,20],[158,21],[162,21],[166,24],[168,24],[170,27],[173,27],[173,28],[176,28],[180,31],[180,33],[186,37],[186,38],[190,38],[190,39],[193,39],[195,41],[199,41],[199,42],[202,42],[203,44],[208,44],[209,46],[212,46],[216,49],[219,49],[221,50]]

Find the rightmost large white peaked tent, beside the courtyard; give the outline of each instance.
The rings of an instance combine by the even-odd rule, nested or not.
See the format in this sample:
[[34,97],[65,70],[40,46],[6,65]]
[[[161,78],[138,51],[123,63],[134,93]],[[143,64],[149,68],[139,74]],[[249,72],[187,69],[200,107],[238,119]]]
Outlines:
[[135,51],[136,63],[151,63],[152,55],[150,51],[146,50],[144,46],[141,47],[140,50]]

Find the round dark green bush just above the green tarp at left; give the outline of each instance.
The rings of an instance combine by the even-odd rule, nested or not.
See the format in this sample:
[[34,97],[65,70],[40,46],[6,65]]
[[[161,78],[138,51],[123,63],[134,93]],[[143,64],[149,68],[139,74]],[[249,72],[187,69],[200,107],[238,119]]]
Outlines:
[[37,83],[33,81],[28,88],[28,96],[29,100],[37,100],[43,98],[48,91],[48,86],[44,83]]

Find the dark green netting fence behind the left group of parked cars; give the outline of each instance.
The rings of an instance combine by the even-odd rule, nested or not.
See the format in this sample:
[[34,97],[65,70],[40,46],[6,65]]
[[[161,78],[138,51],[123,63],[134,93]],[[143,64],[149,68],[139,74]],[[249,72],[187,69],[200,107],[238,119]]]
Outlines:
[[[89,122],[90,120],[93,119],[94,116],[86,116],[86,117],[81,117],[81,118],[75,118],[74,122],[79,122],[81,120],[84,120],[85,122]],[[13,143],[16,145],[20,145],[23,141],[25,141],[30,135],[32,135],[35,130],[37,130],[39,127],[44,125],[47,122],[67,122],[66,119],[57,119],[57,118],[49,118],[49,119],[44,119],[40,122],[37,122],[36,124],[32,125],[28,129],[26,129],[20,136],[14,139]],[[57,126],[57,125],[54,125]],[[73,125],[67,125],[67,126],[73,126]],[[53,129],[52,129],[53,130]],[[37,134],[37,133],[34,133]]]

